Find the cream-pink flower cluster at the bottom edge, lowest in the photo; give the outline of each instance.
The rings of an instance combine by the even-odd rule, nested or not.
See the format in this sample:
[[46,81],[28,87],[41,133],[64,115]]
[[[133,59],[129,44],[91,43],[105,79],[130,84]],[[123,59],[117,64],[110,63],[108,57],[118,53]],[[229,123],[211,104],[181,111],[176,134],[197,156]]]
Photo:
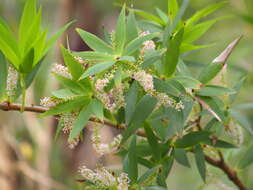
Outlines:
[[79,173],[85,178],[85,180],[91,182],[97,187],[116,187],[117,190],[128,190],[130,180],[125,173],[121,173],[117,177],[104,167],[99,167],[93,171],[88,169],[86,166],[80,167]]

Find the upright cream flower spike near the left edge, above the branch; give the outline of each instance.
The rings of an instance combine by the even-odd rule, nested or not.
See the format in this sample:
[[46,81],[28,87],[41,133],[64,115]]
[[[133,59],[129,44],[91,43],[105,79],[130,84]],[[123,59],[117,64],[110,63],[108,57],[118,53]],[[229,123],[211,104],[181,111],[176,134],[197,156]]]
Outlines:
[[9,65],[7,75],[7,86],[6,86],[8,96],[14,95],[15,89],[17,88],[17,82],[18,82],[18,72],[12,65]]

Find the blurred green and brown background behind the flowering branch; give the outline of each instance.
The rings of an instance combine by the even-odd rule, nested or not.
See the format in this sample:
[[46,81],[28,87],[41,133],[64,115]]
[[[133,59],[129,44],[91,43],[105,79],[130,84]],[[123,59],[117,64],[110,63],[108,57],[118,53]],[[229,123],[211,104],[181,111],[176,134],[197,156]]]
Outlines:
[[[1,0],[0,16],[7,20],[13,30],[18,26],[18,20],[25,0]],[[80,41],[74,31],[75,27],[84,28],[90,32],[101,34],[103,27],[109,31],[114,28],[118,4],[127,2],[135,8],[154,12],[154,7],[166,11],[166,0],[39,0],[43,7],[44,25],[50,31],[55,31],[64,23],[76,19],[77,22],[65,34],[59,44],[66,43],[68,36],[71,49],[83,50],[87,47]],[[204,8],[210,3],[218,0],[191,0],[185,17],[196,10]],[[214,43],[212,47],[201,49],[185,57],[194,68],[201,67],[212,61],[226,45],[236,37],[243,35],[243,39],[236,51],[229,59],[229,75],[227,81],[231,84],[240,76],[247,73],[247,78],[238,102],[253,101],[253,1],[252,0],[228,0],[224,8],[212,14],[211,17],[226,16],[215,24],[211,30],[198,42],[199,44]],[[54,62],[61,62],[58,46],[47,56],[45,64],[41,68],[35,82],[29,89],[28,103],[39,104],[40,98],[49,96],[52,89],[58,88],[57,82],[50,76],[50,66]],[[245,114],[253,123],[253,113],[246,110]],[[103,163],[111,168],[120,168],[121,160],[115,156],[100,158],[92,152],[89,138],[75,150],[67,147],[66,138],[62,136],[54,141],[55,127],[57,121],[53,118],[41,118],[36,114],[0,112],[0,189],[11,190],[50,190],[50,189],[82,189],[76,181],[77,168],[81,164],[94,167],[97,163]],[[87,136],[89,135],[87,130]],[[116,133],[109,129],[104,134],[107,140]],[[2,138],[4,137],[4,138]],[[244,136],[245,146],[251,140],[246,134]],[[242,150],[231,150],[226,156],[230,164],[236,164]],[[14,152],[13,152],[14,151]],[[15,152],[16,151],[16,152]],[[241,151],[241,152],[240,152]],[[22,161],[16,163],[16,154],[20,155]],[[192,160],[192,159],[191,159]],[[218,190],[236,189],[220,171],[208,167],[209,180],[204,185],[192,160],[192,168],[184,168],[174,165],[168,184],[170,189],[181,190]],[[243,181],[249,189],[253,189],[253,167],[239,171]]]

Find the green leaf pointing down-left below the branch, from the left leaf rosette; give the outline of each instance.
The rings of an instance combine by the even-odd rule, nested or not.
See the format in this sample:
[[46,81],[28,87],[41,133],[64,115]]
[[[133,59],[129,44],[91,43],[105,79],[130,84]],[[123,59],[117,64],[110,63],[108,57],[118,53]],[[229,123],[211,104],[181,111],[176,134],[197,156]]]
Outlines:
[[90,119],[90,116],[92,114],[92,109],[91,109],[91,103],[87,102],[87,104],[82,108],[81,112],[79,113],[73,129],[70,132],[69,135],[69,141],[74,140],[76,137],[80,135],[82,130],[86,127],[87,122]]

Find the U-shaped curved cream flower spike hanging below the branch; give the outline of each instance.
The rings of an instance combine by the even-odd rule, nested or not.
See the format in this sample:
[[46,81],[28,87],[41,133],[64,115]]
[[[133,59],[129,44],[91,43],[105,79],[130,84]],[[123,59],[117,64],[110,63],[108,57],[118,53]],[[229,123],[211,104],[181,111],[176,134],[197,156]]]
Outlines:
[[122,135],[116,136],[110,144],[104,144],[101,142],[101,135],[99,134],[99,127],[94,126],[92,135],[93,147],[100,155],[110,154],[117,152],[122,140]]

